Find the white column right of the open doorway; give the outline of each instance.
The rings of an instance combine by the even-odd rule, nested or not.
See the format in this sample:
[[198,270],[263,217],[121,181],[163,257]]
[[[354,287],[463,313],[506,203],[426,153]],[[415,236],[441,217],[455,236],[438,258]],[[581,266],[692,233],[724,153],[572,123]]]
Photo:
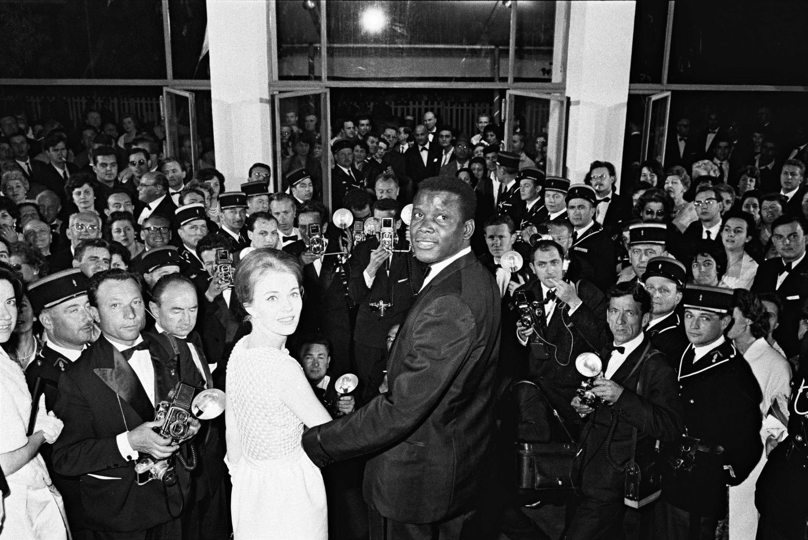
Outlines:
[[610,161],[620,178],[634,2],[570,2],[569,6],[567,178],[583,182],[595,160]]

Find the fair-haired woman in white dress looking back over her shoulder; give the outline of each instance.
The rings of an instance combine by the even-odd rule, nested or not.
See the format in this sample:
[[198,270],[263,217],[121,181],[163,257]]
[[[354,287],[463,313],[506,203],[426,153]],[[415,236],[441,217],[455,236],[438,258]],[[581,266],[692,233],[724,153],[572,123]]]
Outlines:
[[330,416],[284,348],[300,319],[301,267],[287,253],[255,249],[239,262],[234,281],[252,322],[227,366],[235,539],[326,540],[326,490],[301,434]]

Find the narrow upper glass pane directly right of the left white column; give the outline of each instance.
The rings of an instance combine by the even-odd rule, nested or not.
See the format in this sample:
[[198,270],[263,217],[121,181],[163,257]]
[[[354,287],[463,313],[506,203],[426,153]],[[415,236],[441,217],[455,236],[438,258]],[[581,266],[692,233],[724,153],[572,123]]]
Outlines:
[[[278,0],[278,78],[322,80],[320,66],[320,2]],[[336,2],[331,2],[336,3]],[[330,10],[330,6],[329,6]],[[329,11],[330,16],[330,11]]]

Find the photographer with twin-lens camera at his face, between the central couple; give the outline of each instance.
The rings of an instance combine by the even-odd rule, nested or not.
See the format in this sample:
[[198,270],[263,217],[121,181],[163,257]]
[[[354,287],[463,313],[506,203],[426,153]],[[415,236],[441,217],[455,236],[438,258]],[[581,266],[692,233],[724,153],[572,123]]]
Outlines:
[[[385,219],[392,222],[389,231],[381,230]],[[373,220],[376,234],[353,249],[348,285],[351,299],[359,304],[354,351],[362,403],[377,395],[384,379],[387,331],[402,323],[423,283],[420,263],[411,251],[402,251],[407,243],[398,233],[399,203],[393,199],[373,203]],[[382,234],[388,235],[392,249],[381,244]]]

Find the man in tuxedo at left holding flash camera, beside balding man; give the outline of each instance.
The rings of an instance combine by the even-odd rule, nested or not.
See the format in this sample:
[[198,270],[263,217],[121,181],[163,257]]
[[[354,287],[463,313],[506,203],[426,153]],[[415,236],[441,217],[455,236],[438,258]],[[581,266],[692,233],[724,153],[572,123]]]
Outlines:
[[179,538],[174,516],[188,500],[187,471],[176,467],[171,488],[136,482],[139,458],[173,458],[180,450],[154,431],[161,426],[155,404],[167,395],[158,391],[160,370],[141,337],[141,287],[125,270],[106,270],[90,280],[89,298],[102,336],[61,375],[54,407],[65,429],[53,445],[53,467],[79,483],[69,521],[84,526],[85,538]]

